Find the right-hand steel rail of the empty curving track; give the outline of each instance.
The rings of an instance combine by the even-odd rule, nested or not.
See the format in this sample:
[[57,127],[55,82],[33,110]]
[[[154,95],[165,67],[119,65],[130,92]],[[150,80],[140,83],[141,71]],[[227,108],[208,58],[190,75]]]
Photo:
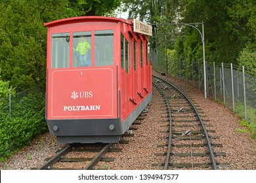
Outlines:
[[208,149],[208,152],[209,152],[209,157],[210,157],[210,160],[211,160],[212,169],[217,170],[217,163],[216,163],[216,160],[215,160],[215,155],[214,155],[214,152],[213,152],[213,148],[211,146],[211,141],[210,141],[209,135],[207,133],[207,130],[205,128],[205,125],[203,124],[203,120],[202,120],[200,114],[198,113],[198,111],[196,110],[196,107],[194,107],[192,102],[188,99],[188,97],[186,97],[186,95],[184,93],[181,92],[181,90],[179,90],[179,88],[177,88],[176,86],[174,86],[173,84],[171,84],[167,80],[164,80],[163,78],[160,78],[156,75],[153,75],[153,77],[158,78],[159,80],[162,80],[163,82],[165,82],[165,83],[169,84],[170,86],[172,86],[173,88],[175,88],[175,90],[177,90],[179,93],[181,93],[181,95],[183,95],[183,97],[188,101],[190,106],[194,109],[194,112],[196,112],[196,115],[197,115],[198,119],[200,120],[200,124],[202,125],[203,133],[205,135],[205,139],[206,139],[206,142],[207,142],[207,149]]

